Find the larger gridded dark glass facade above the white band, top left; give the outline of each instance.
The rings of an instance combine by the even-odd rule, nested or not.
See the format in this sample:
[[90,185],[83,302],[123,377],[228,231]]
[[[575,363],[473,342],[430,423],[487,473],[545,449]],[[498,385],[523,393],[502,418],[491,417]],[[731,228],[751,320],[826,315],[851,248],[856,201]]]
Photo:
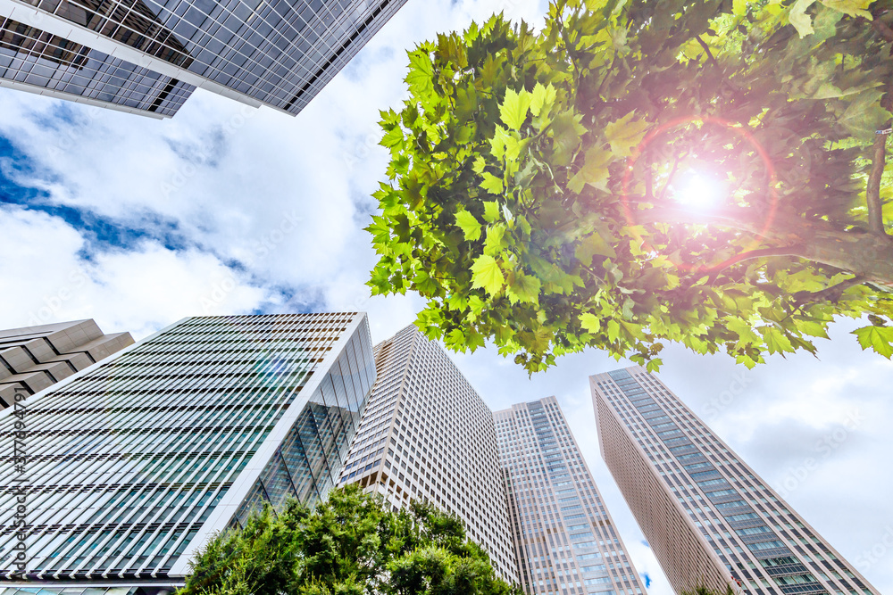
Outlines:
[[405,0],[20,0],[296,114]]

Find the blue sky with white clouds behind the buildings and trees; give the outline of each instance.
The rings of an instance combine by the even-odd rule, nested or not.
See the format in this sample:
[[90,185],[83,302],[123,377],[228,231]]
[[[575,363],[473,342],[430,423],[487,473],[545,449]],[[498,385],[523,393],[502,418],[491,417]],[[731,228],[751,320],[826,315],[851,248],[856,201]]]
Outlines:
[[[385,177],[379,110],[405,97],[405,51],[541,0],[409,0],[296,118],[198,90],[151,120],[0,89],[0,328],[95,318],[140,339],[188,316],[363,310],[380,341],[412,294],[371,298],[363,232]],[[663,381],[881,592],[893,592],[893,364],[852,321],[819,356],[754,370],[671,346]],[[670,595],[597,446],[599,351],[529,378],[492,347],[455,361],[488,405],[555,395],[649,592]]]

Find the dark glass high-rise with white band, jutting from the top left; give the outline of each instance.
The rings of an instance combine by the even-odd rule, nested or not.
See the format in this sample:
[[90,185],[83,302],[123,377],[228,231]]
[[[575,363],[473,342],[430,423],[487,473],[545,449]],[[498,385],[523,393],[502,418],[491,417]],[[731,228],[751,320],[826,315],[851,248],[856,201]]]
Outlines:
[[405,0],[0,0],[0,86],[155,117],[300,112]]

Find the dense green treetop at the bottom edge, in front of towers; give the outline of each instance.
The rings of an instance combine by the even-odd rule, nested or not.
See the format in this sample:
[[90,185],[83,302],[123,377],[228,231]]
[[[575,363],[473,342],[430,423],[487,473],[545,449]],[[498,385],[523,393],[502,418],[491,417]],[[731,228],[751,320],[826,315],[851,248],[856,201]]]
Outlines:
[[413,502],[391,511],[355,485],[311,510],[267,506],[216,535],[179,595],[521,595],[498,579],[462,522]]

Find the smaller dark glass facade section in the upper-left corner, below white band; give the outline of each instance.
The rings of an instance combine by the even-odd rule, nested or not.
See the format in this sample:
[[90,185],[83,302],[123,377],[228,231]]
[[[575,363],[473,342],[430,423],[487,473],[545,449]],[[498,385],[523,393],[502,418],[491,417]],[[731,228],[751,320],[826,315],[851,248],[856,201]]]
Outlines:
[[195,87],[0,18],[0,79],[171,116]]

